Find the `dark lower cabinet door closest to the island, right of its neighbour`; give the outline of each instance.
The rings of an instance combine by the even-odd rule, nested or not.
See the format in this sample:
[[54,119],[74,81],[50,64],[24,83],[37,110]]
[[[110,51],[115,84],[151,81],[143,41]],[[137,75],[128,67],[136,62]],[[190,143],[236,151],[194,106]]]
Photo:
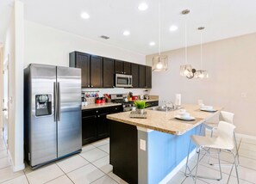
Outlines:
[[106,118],[108,113],[97,115],[97,138],[106,138],[109,136],[109,120]]

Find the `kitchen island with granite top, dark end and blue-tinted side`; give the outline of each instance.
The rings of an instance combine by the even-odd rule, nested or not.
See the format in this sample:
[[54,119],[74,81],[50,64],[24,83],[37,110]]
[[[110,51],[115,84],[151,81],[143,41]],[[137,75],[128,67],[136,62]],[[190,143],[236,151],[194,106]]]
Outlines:
[[176,120],[178,111],[147,110],[147,119],[130,118],[130,112],[108,115],[113,173],[128,183],[169,181],[185,163],[190,135],[199,134],[201,124],[217,117],[221,109],[209,113],[197,105],[183,107],[196,120]]

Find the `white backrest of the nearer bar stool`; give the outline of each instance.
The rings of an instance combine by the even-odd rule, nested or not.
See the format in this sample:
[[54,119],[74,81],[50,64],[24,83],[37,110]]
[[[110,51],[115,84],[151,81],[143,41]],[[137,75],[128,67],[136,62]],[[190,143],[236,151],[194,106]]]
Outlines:
[[222,144],[227,146],[227,150],[234,148],[234,128],[233,124],[220,121],[218,125],[218,138],[222,140]]

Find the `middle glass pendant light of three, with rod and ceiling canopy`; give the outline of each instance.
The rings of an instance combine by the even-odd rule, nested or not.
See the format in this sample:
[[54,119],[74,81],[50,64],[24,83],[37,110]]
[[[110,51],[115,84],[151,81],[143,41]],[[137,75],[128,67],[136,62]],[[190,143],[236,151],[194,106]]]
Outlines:
[[[182,15],[187,15],[189,13],[190,13],[190,9],[184,9],[181,12]],[[187,53],[187,22],[185,22],[185,64],[180,65],[180,69],[179,69],[180,76],[187,77],[188,75],[190,76],[190,74],[192,72],[192,66],[191,66],[191,64],[188,64],[187,57],[188,57],[188,53]]]

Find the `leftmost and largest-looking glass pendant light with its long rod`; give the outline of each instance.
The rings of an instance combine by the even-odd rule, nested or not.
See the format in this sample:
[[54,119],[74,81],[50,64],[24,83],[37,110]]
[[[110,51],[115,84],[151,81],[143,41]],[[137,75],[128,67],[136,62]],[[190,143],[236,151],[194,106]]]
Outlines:
[[[160,1],[160,0],[159,0]],[[159,55],[153,57],[153,71],[167,71],[168,56],[161,55],[161,21],[160,21],[160,2],[159,2]]]

